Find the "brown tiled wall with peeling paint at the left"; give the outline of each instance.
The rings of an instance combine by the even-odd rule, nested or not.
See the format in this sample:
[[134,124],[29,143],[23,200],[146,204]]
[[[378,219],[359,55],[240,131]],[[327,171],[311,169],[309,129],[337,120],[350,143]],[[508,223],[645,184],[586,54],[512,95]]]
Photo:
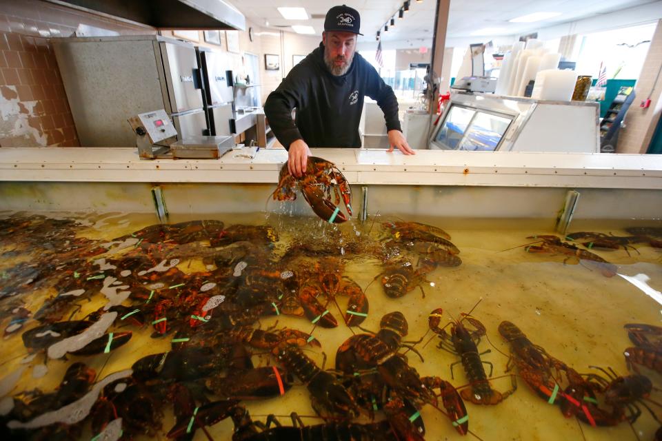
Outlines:
[[156,32],[46,1],[0,0],[0,147],[79,145],[49,43],[71,36],[79,24]]

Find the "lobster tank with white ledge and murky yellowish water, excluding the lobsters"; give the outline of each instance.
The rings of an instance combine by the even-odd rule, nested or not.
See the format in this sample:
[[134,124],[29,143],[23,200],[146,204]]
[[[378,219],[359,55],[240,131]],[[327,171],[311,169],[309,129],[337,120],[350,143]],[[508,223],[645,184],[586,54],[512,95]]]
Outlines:
[[[615,265],[616,274],[610,276],[585,260],[571,265],[576,262],[570,256],[526,252],[539,245],[530,236],[556,234],[562,238],[571,232],[625,236],[625,227],[661,227],[659,156],[426,150],[416,156],[402,156],[383,150],[341,149],[317,149],[315,154],[335,163],[352,185],[354,216],[348,223],[336,226],[321,222],[301,197],[294,203],[271,200],[287,158],[283,150],[259,150],[254,158],[233,151],[215,161],[140,161],[134,149],[124,148],[3,148],[0,207],[5,216],[38,213],[80,218],[84,220],[81,225],[86,225],[80,236],[103,240],[159,221],[194,219],[219,219],[226,225],[268,223],[279,229],[281,240],[292,240],[297,234],[323,240],[339,229],[350,236],[375,237],[379,243],[390,238],[380,227],[383,222],[419,221],[441,227],[460,249],[462,263],[426,274],[421,280],[425,296],[417,288],[402,298],[386,297],[376,277],[384,268],[374,258],[348,260],[343,274],[356,280],[370,301],[370,313],[361,326],[377,331],[384,314],[401,311],[409,322],[405,339],[425,336],[416,346],[423,360],[409,352],[410,365],[421,376],[441,376],[456,387],[468,381],[460,365],[454,366],[451,379],[449,367],[459,358],[439,349],[437,338],[425,345],[432,337],[426,331],[433,309],[443,309],[445,324],[451,317],[469,312],[480,300],[472,316],[485,325],[494,347],[483,338],[479,349],[491,349],[483,360],[494,365],[492,386],[503,393],[511,388],[510,372],[505,370],[508,357],[499,353],[510,352],[497,331],[503,320],[514,322],[532,342],[580,373],[599,373],[589,368],[599,365],[625,376],[629,371],[623,350],[632,343],[623,325],[656,325],[661,319],[659,249],[641,244],[613,251],[593,249]],[[34,312],[44,298],[54,294],[53,290],[37,293],[26,307]],[[345,305],[343,298],[339,302]],[[77,318],[98,307],[94,302],[83,305]],[[278,319],[279,328],[312,333],[321,342],[321,349],[308,348],[305,353],[319,365],[325,353],[328,369],[334,365],[337,347],[352,332],[361,332],[346,327],[335,311],[332,309],[340,325],[334,329],[314,327],[305,318],[290,316],[264,318],[260,325],[268,329]],[[37,325],[31,321],[34,323],[26,322],[24,329]],[[8,323],[5,320],[3,325]],[[110,356],[50,360],[46,364],[48,374],[41,378],[35,372],[43,369],[43,358],[37,356],[21,365],[23,357],[17,356],[26,354],[26,349],[14,334],[5,340],[0,356],[6,362],[6,372],[22,371],[16,386],[4,390],[9,396],[34,387],[52,391],[72,361],[88,363],[97,373],[103,371],[100,378],[104,378],[127,369],[139,357],[171,349],[172,336],[150,338],[151,332],[135,331],[133,340]],[[262,353],[254,356],[254,362],[273,365],[275,359]],[[489,367],[487,371],[489,374]],[[646,368],[641,371],[659,387],[658,373]],[[627,423],[591,427],[575,418],[564,418],[557,406],[536,396],[520,376],[516,381],[518,389],[497,405],[466,404],[470,438],[634,438]],[[659,395],[654,391],[652,398],[659,401]],[[321,422],[305,418],[314,411],[309,393],[300,383],[282,397],[246,401],[245,405],[254,420],[277,413],[283,424],[290,424],[289,413],[297,411],[306,424]],[[659,424],[643,410],[633,427],[641,439],[652,439]],[[426,405],[420,415],[425,422],[425,439],[463,438],[434,407]],[[156,433],[165,435],[173,424],[168,410],[163,427]],[[86,430],[83,438],[97,435],[89,427]],[[207,430],[214,439],[229,440],[232,424],[228,419]],[[196,439],[205,439],[201,431]]]

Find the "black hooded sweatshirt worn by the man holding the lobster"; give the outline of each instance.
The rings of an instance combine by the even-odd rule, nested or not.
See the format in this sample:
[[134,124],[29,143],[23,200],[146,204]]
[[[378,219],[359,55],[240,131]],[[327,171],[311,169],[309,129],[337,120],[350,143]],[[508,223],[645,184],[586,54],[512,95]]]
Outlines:
[[[355,53],[347,73],[334,76],[324,64],[324,46],[292,68],[264,104],[264,113],[278,141],[303,139],[309,147],[361,147],[359,121],[365,95],[384,112],[386,128],[401,130],[398,101],[390,86]],[[297,108],[297,121],[292,109]]]

